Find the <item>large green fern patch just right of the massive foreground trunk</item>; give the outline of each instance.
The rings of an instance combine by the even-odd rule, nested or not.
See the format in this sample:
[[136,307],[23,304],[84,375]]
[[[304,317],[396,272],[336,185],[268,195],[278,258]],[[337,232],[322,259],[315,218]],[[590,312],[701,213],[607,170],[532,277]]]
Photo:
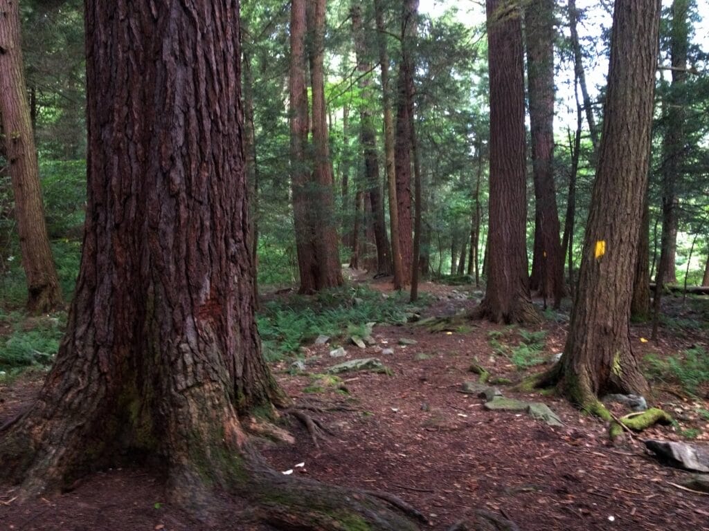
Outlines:
[[269,361],[280,359],[320,334],[351,335],[362,332],[369,322],[406,321],[406,313],[413,310],[407,301],[408,294],[403,292],[385,298],[367,288],[342,287],[312,297],[292,295],[269,302],[257,315],[264,356]]

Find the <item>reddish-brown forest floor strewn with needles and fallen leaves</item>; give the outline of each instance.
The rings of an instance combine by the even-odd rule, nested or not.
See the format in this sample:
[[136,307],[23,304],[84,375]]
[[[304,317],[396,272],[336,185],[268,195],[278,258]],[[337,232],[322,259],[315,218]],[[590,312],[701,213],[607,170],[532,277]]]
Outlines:
[[[390,290],[386,282],[353,280]],[[423,309],[422,319],[467,312],[481,296],[470,286],[426,282],[421,290],[436,299]],[[664,330],[659,343],[645,340],[649,326],[632,326],[637,355],[661,360],[709,346],[703,326],[691,325],[707,322],[706,305],[697,310],[680,299],[669,304],[679,325]],[[503,515],[520,530],[709,530],[709,496],[683,489],[688,472],[661,464],[642,444],[646,438],[687,437],[707,444],[707,389],[691,397],[674,382],[655,382],[648,401],[679,423],[623,435],[615,444],[608,440],[608,426],[559,396],[497,386],[504,396],[547,404],[564,424],[550,427],[524,412],[487,411],[484,399],[461,392],[464,382],[477,379],[469,372],[473,362],[513,382],[548,367],[541,362],[563,350],[568,313],[545,315],[545,324],[535,330],[484,321],[440,333],[414,324],[375,326],[374,344],[367,348],[340,338],[347,355],[337,359],[330,357],[334,345],[306,345],[301,348],[305,371],[294,373],[292,360],[272,368],[294,403],[331,434],[316,445],[294,421],[294,444],[264,443],[262,452],[281,472],[393,493],[418,508],[431,530],[446,530],[479,509]],[[336,363],[372,357],[388,373],[326,375]],[[0,426],[28,404],[40,383],[41,375],[28,373],[9,387],[0,384]],[[621,406],[614,411],[627,412]],[[99,472],[71,492],[22,506],[13,503],[12,492],[0,491],[0,530],[207,528],[240,529],[228,511],[213,527],[192,520],[164,502],[160,479],[140,469]]]

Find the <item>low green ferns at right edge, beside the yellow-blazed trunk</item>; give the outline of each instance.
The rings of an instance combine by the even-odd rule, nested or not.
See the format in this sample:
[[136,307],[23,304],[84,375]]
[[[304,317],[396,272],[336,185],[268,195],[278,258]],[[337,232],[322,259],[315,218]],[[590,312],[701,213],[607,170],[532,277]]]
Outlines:
[[649,354],[644,362],[650,379],[679,384],[688,394],[697,394],[699,387],[709,382],[709,353],[701,347],[665,359]]

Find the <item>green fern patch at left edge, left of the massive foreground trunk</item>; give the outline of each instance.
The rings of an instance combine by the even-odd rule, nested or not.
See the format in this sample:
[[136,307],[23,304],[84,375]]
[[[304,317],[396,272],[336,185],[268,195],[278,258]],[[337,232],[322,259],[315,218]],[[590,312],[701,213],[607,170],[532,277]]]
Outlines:
[[64,333],[63,314],[25,319],[22,314],[13,312],[1,318],[11,326],[12,332],[0,338],[0,370],[51,365]]

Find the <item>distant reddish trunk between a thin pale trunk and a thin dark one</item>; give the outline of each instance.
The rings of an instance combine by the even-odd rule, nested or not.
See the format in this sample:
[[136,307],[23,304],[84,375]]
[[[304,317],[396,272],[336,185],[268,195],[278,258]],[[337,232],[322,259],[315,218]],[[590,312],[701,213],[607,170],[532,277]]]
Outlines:
[[399,251],[404,285],[411,283],[413,241],[411,213],[411,123],[413,117],[413,40],[416,36],[418,0],[403,0],[401,15],[401,64],[398,73],[396,114],[396,202],[398,212]]

